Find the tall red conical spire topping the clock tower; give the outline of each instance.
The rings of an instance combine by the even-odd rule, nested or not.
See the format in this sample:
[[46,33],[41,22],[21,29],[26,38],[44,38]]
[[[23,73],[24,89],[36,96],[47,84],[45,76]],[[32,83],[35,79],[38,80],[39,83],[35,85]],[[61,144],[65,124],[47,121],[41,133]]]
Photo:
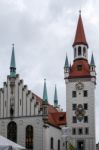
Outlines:
[[82,17],[81,17],[81,10],[79,11],[78,25],[77,25],[77,29],[76,29],[76,35],[75,35],[73,46],[75,46],[77,44],[84,44],[88,47],[88,43],[87,43],[86,37],[85,37]]

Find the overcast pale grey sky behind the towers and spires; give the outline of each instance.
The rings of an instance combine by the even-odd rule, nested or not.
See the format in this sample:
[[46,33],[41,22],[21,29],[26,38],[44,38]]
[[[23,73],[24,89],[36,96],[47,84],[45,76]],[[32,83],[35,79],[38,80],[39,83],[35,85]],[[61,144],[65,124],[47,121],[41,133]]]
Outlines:
[[[73,40],[82,10],[89,62],[94,53],[99,83],[98,0],[0,0],[0,87],[9,74],[12,43],[15,43],[17,73],[29,89],[42,97],[47,79],[49,102],[57,85],[59,104],[66,109],[64,62],[66,52],[73,62]],[[96,139],[99,141],[99,84],[96,86]]]

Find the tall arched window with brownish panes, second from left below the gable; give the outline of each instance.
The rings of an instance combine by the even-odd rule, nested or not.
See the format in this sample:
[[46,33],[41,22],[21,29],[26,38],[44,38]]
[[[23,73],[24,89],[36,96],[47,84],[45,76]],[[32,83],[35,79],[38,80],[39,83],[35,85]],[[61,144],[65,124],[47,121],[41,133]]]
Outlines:
[[33,150],[33,127],[31,125],[26,127],[26,148]]

